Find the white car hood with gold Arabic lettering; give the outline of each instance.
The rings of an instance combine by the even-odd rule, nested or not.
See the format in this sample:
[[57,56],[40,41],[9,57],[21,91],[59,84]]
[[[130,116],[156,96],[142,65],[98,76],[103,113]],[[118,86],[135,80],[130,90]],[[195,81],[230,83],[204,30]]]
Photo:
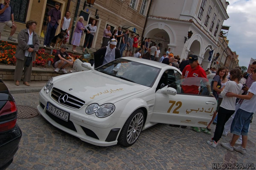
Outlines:
[[53,87],[82,99],[86,105],[92,103],[114,104],[150,88],[94,70],[58,77],[56,81],[53,81]]

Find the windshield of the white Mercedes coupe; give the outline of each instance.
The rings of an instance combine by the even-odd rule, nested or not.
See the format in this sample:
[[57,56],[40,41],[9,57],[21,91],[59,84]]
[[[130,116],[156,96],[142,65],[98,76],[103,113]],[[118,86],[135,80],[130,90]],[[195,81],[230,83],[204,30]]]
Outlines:
[[152,87],[161,69],[127,59],[116,59],[95,70],[133,83]]

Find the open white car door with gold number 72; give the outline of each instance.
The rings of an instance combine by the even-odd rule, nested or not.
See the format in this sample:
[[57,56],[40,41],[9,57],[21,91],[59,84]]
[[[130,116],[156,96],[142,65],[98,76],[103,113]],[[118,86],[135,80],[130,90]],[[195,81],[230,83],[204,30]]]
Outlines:
[[[150,121],[206,127],[217,107],[214,97],[207,95],[207,92],[202,93],[205,90],[207,91],[206,85],[209,85],[211,80],[209,82],[204,79],[203,81],[206,82],[203,82],[202,78],[195,77],[190,81],[184,82],[184,79],[178,80],[181,75],[175,70],[165,71],[163,76],[166,77],[166,74],[168,75],[168,85],[163,87],[163,80],[160,79],[159,83],[162,86],[156,90],[155,105]],[[176,81],[172,83],[173,80]],[[198,85],[198,94],[184,93],[182,86],[186,85],[185,83]],[[168,87],[174,88],[177,93],[175,95],[163,93],[162,91]]]

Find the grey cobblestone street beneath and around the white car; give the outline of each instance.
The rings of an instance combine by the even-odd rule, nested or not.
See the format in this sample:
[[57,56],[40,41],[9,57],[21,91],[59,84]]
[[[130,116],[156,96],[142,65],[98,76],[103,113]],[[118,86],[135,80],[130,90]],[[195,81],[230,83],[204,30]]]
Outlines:
[[[16,104],[38,105],[38,93],[14,94]],[[18,119],[22,138],[13,163],[7,168],[16,170],[209,170],[213,163],[254,163],[256,167],[256,120],[249,132],[247,155],[216,149],[206,141],[213,135],[197,133],[189,127],[182,129],[157,124],[142,132],[130,147],[121,145],[100,147],[81,141],[57,129],[41,116]],[[215,125],[211,126],[212,134]],[[220,139],[228,142],[232,135]],[[246,168],[246,167],[245,167]]]

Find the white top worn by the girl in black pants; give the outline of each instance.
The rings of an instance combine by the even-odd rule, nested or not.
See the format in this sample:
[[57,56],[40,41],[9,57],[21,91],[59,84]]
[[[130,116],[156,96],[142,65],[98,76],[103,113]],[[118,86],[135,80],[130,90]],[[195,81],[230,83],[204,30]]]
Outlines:
[[243,85],[241,83],[237,84],[235,83],[235,81],[228,81],[223,91],[220,93],[220,95],[223,97],[220,107],[223,107],[224,109],[227,109],[227,110],[235,110],[236,97],[227,97],[226,93],[232,92],[232,93],[238,94],[242,89],[242,87]]

